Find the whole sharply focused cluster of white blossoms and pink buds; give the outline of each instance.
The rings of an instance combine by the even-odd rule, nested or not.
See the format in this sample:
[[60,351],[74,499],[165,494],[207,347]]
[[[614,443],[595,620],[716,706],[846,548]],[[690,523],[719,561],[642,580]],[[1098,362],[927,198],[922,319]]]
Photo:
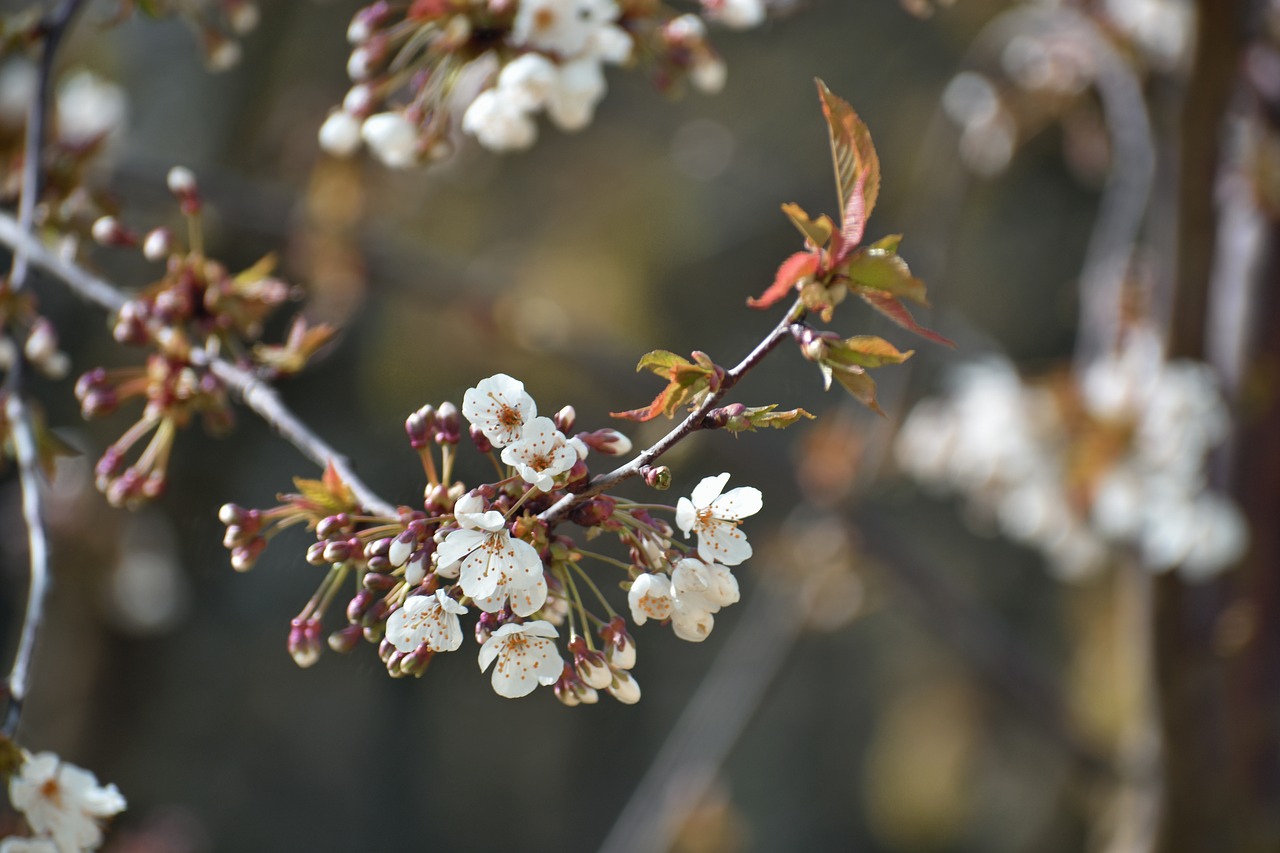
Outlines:
[[[280,506],[223,507],[224,543],[233,565],[244,570],[280,529],[306,524],[315,530],[307,561],[328,571],[293,620],[289,649],[300,665],[319,658],[323,617],[353,578],[347,626],[330,634],[329,646],[348,651],[361,638],[378,643],[393,676],[422,675],[435,654],[458,651],[467,635],[462,619],[475,613],[480,669],[493,667],[499,695],[522,697],[541,684],[571,706],[595,702],[600,690],[635,702],[635,642],[584,561],[604,565],[614,574],[611,583],[628,589],[636,625],[669,620],[677,637],[703,640],[712,613],[739,598],[731,567],[751,556],[740,523],[760,510],[760,493],[724,492],[728,474],[722,474],[676,506],[582,494],[593,455],[625,455],[631,443],[612,429],[575,434],[575,421],[571,407],[539,415],[524,383],[489,377],[466,391],[461,410],[426,406],[406,421],[428,479],[421,510],[369,515],[329,471],[323,480],[297,480],[298,493],[284,496]],[[466,433],[498,466],[497,482],[468,489],[454,479]],[[585,549],[558,529],[558,520],[541,517],[566,498],[573,501],[567,520],[585,530],[585,539],[611,535],[628,558]],[[671,512],[695,544],[676,539],[673,526],[654,517],[658,510]],[[562,651],[557,640],[566,625]]]

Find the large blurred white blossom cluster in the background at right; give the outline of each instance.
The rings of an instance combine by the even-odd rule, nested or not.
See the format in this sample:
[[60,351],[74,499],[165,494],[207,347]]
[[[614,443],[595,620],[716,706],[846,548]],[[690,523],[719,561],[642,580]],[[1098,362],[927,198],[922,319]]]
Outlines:
[[959,370],[950,397],[913,410],[896,452],[1060,576],[1088,576],[1126,547],[1152,571],[1202,579],[1236,562],[1248,539],[1239,510],[1204,478],[1226,426],[1212,370],[1164,361],[1156,337],[1134,330],[1078,384],[1024,383],[1002,360]]

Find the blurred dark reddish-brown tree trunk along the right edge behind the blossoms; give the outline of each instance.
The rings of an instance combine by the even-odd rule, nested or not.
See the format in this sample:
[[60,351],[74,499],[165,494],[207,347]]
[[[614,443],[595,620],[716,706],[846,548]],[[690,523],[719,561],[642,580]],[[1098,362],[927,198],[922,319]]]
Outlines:
[[[1251,546],[1213,584],[1156,588],[1165,763],[1158,853],[1280,850],[1280,53],[1271,0],[1198,0],[1180,120],[1171,357],[1225,382],[1215,488]],[[1270,12],[1268,12],[1270,10]],[[1270,199],[1268,199],[1270,196]]]

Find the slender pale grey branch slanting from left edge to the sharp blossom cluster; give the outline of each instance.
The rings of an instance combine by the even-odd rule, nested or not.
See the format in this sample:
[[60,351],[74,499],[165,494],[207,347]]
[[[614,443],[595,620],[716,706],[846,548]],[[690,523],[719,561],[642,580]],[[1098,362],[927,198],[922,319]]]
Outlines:
[[[24,233],[18,223],[5,214],[0,214],[0,243],[14,251],[24,251],[35,266],[63,280],[72,291],[101,309],[115,313],[128,301],[118,287],[70,261],[63,260],[37,238]],[[379,497],[356,475],[351,461],[344,455],[334,450],[289,411],[269,383],[251,371],[207,352],[193,351],[191,360],[198,366],[207,368],[210,373],[221,379],[241,397],[246,406],[301,451],[303,456],[321,467],[332,465],[351,488],[356,500],[366,508],[383,515],[396,515],[396,507]]]

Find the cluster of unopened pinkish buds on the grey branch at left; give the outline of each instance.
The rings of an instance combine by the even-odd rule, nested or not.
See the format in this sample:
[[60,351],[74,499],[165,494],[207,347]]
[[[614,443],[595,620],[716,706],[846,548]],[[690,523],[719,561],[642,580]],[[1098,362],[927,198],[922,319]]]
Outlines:
[[[195,175],[178,167],[169,172],[168,183],[186,219],[187,245],[164,227],[134,234],[114,216],[102,216],[92,227],[99,243],[137,247],[147,260],[165,264],[164,275],[118,311],[113,328],[118,342],[151,350],[146,364],[95,368],[76,383],[86,418],[110,414],[134,397],[146,402],[142,418],[97,464],[99,489],[115,506],[136,505],[164,489],[174,435],[193,416],[202,416],[212,432],[230,425],[227,389],[207,370],[209,353],[230,353],[269,377],[288,375],[301,370],[333,334],[298,321],[284,345],[260,343],[262,323],[294,298],[294,289],[273,275],[271,256],[238,274],[207,257],[204,202]],[[127,464],[131,450],[147,435],[146,448]]]

